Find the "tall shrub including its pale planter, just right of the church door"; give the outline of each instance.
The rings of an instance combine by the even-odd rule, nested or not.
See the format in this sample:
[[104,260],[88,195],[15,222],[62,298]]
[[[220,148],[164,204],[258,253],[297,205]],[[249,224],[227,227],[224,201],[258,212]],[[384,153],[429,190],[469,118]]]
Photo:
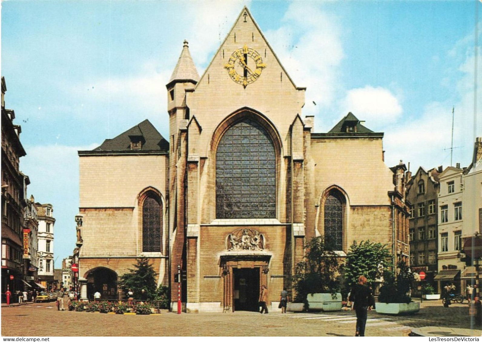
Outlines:
[[295,270],[295,301],[287,310],[341,310],[338,255],[322,236],[313,237],[305,247],[305,259]]

